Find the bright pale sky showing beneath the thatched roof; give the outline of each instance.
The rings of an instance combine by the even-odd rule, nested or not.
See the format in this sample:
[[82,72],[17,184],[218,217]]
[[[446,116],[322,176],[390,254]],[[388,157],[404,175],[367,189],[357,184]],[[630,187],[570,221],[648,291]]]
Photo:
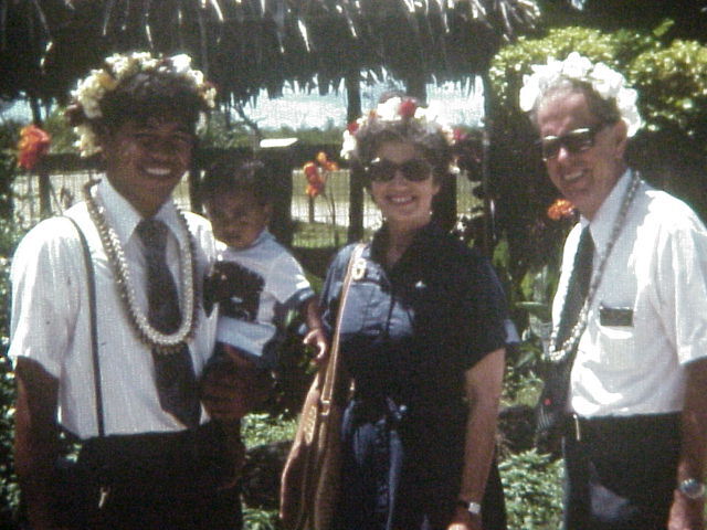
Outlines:
[[[394,82],[388,81],[361,88],[363,110],[376,106],[380,95],[397,88]],[[483,89],[481,82],[463,87],[458,83],[428,85],[428,100],[440,103],[442,119],[449,125],[475,126],[483,118]],[[283,97],[270,99],[265,92],[253,103],[245,105],[250,119],[262,129],[288,126],[297,128],[320,128],[328,125],[342,127],[346,125],[346,91],[320,96],[318,92],[305,93],[297,87],[286,87]],[[15,103],[0,108],[0,119],[29,120],[29,107],[24,103]]]

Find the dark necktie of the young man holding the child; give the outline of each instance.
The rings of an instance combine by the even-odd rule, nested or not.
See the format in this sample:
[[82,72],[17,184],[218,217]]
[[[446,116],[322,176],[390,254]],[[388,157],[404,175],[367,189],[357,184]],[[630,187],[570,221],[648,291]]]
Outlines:
[[[175,278],[167,266],[167,225],[161,221],[147,219],[136,230],[143,240],[147,263],[148,320],[158,331],[173,333],[181,325],[181,311]],[[162,410],[188,427],[198,425],[201,412],[199,393],[187,344],[170,353],[152,349],[152,360]]]

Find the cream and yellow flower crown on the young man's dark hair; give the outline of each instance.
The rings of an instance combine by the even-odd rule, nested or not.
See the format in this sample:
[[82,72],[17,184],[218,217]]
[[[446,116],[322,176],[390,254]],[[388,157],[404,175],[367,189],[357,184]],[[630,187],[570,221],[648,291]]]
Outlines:
[[184,77],[193,84],[194,92],[199,94],[204,110],[215,106],[215,88],[211,83],[204,81],[201,71],[191,67],[189,55],[156,57],[148,52],[116,53],[104,61],[102,68],[92,70],[91,74],[81,80],[76,89],[72,92],[73,112],[85,118],[74,126],[74,130],[78,135],[77,147],[82,156],[87,157],[101,151],[95,132],[89,125],[91,121],[103,117],[101,100],[125,80],[140,72],[150,71]]

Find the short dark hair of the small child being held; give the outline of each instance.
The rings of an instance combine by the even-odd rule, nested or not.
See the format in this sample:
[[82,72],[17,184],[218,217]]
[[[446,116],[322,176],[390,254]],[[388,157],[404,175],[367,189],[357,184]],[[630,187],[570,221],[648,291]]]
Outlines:
[[204,202],[222,193],[245,191],[253,193],[260,204],[270,204],[272,190],[270,174],[260,160],[219,160],[207,169],[200,186]]

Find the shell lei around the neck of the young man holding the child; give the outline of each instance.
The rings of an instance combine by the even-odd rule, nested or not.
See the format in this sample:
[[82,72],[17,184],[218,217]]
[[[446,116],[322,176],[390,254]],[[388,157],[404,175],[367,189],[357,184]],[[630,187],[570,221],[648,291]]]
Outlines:
[[125,258],[125,252],[123,245],[116,234],[115,230],[108,224],[106,218],[103,215],[101,206],[96,203],[95,199],[91,194],[91,188],[96,186],[99,180],[88,181],[84,188],[84,199],[88,209],[88,214],[92,221],[98,230],[101,236],[101,243],[108,256],[108,262],[113,268],[114,274],[117,277],[118,292],[120,299],[125,305],[128,320],[133,325],[138,338],[151,349],[159,353],[172,353],[179,350],[182,344],[190,340],[194,330],[197,329],[198,321],[198,304],[197,298],[199,296],[197,289],[197,267],[194,263],[194,242],[187,227],[187,220],[181,211],[179,211],[179,220],[181,221],[181,227],[184,233],[184,237],[189,241],[182,252],[180,252],[180,271],[181,278],[184,285],[181,288],[180,307],[182,308],[182,319],[179,329],[173,333],[162,333],[150,326],[147,316],[140,310],[135,300],[135,287],[130,282],[130,272],[128,269],[127,259]]

